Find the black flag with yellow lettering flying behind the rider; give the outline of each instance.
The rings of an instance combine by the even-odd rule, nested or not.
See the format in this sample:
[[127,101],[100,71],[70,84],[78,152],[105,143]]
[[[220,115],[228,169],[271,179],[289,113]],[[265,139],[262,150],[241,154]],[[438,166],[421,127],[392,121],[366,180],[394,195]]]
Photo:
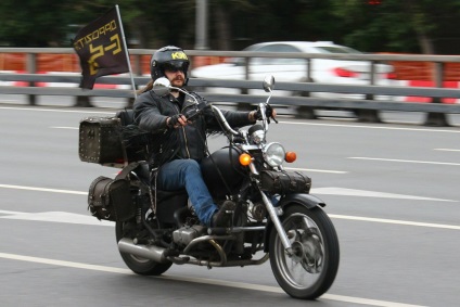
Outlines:
[[92,89],[98,77],[129,72],[122,33],[116,7],[78,31],[73,46],[80,59],[80,88]]

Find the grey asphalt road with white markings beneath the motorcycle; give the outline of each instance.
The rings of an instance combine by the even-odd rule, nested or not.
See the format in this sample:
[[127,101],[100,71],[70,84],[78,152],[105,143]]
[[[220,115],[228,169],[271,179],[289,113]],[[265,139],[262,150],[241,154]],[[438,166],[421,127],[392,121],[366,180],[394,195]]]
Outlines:
[[[9,101],[11,102],[11,101]],[[458,306],[460,128],[280,116],[269,140],[297,152],[340,238],[316,302],[289,297],[269,264],[131,273],[89,183],[116,169],[78,159],[78,121],[107,108],[0,105],[0,306]],[[408,124],[409,123],[409,124]],[[223,144],[210,139],[210,146]]]

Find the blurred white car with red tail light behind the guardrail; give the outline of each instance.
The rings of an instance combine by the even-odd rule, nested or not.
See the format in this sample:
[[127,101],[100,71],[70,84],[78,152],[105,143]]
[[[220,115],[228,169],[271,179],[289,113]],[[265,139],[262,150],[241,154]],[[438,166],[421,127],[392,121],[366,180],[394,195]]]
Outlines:
[[[303,53],[352,53],[362,54],[355,49],[330,41],[274,41],[250,46],[244,51],[254,52],[303,52]],[[227,63],[207,65],[192,69],[191,77],[216,79],[245,79],[245,59],[230,59]],[[391,86],[395,78],[394,68],[386,64],[376,64],[374,85]],[[370,64],[368,61],[342,61],[311,59],[311,78],[314,82],[340,85],[370,85]],[[264,80],[271,74],[277,81],[305,82],[307,62],[304,59],[252,57],[250,61],[250,80]],[[208,92],[238,93],[239,89],[207,88]],[[250,90],[250,93],[259,93]],[[276,94],[286,92],[276,91]],[[293,94],[292,92],[290,94]],[[295,94],[295,93],[294,93]],[[310,95],[324,98],[362,98],[362,94],[340,94],[332,92],[311,92]]]

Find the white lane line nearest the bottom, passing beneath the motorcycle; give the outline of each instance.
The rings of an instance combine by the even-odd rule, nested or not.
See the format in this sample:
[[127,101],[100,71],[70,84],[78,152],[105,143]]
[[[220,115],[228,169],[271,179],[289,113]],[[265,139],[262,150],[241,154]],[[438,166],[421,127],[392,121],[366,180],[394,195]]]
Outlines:
[[[50,266],[59,266],[59,267],[67,267],[75,269],[85,269],[92,271],[101,271],[101,272],[110,272],[110,273],[119,273],[119,274],[135,274],[128,269],[114,268],[114,267],[105,267],[105,266],[95,266],[88,265],[82,263],[74,263],[74,261],[64,261],[64,260],[55,260],[49,258],[39,258],[39,257],[30,257],[23,256],[16,254],[8,254],[0,253],[0,258],[10,259],[10,260],[20,260]],[[182,282],[193,282],[193,283],[202,283],[202,284],[210,284],[210,285],[219,285],[219,286],[228,286],[228,287],[237,287],[243,290],[255,290],[263,292],[271,292],[271,293],[284,293],[278,286],[263,285],[263,284],[253,284],[253,283],[243,283],[243,282],[233,282],[233,281],[222,281],[222,280],[214,280],[206,278],[191,278],[191,277],[177,277],[177,276],[161,276],[161,277],[152,277],[155,279],[164,279],[164,280],[175,280]],[[387,302],[387,300],[376,300],[376,299],[368,299],[361,297],[353,297],[345,295],[334,295],[334,294],[323,294],[319,299],[330,299],[330,300],[338,300],[346,303],[355,303],[362,304],[369,306],[384,306],[384,307],[422,307],[421,305],[410,305],[410,304],[401,304],[396,302]]]

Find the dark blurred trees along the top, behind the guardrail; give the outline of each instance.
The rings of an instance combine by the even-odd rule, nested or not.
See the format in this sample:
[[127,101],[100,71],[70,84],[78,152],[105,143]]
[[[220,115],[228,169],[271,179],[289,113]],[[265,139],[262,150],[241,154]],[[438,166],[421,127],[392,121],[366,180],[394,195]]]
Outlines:
[[458,0],[2,0],[0,47],[71,47],[81,26],[115,4],[130,48],[328,40],[363,52],[460,53]]

